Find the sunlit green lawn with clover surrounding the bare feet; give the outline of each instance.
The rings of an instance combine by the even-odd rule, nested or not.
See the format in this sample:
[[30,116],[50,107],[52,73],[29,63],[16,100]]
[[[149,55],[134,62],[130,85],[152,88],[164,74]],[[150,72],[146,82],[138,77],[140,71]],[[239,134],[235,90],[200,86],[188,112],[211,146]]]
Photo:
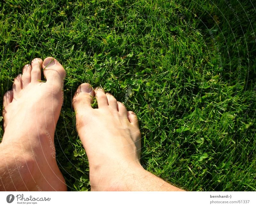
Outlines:
[[254,191],[255,9],[248,1],[230,4],[0,3],[0,101],[33,58],[54,56],[63,64],[55,143],[69,190],[90,190],[71,106],[77,86],[89,82],[138,115],[141,163],[149,172],[187,190]]

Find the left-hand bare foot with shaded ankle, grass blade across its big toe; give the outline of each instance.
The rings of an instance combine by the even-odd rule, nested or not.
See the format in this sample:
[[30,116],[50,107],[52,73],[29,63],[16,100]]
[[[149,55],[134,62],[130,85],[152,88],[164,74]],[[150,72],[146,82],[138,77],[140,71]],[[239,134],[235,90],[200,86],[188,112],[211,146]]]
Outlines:
[[[41,80],[41,72],[46,82]],[[55,159],[54,132],[62,104],[65,70],[51,57],[36,58],[4,95],[0,190],[64,191]]]

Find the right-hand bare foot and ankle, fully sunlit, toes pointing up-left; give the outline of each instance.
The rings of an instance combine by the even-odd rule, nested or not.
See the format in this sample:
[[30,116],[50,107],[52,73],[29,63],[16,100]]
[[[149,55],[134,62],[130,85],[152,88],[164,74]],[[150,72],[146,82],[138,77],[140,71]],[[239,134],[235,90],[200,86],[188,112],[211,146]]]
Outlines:
[[[98,108],[91,103],[96,96]],[[76,127],[90,165],[93,191],[180,191],[140,165],[137,116],[111,94],[89,84],[78,87],[73,107]]]

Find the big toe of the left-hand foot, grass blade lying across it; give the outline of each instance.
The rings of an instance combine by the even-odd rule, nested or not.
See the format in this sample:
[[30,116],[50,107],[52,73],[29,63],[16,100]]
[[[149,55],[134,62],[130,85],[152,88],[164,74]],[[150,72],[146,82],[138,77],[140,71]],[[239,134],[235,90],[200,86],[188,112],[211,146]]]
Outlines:
[[60,87],[63,85],[63,79],[66,72],[63,66],[53,57],[47,57],[43,62],[43,72],[46,83],[54,83]]

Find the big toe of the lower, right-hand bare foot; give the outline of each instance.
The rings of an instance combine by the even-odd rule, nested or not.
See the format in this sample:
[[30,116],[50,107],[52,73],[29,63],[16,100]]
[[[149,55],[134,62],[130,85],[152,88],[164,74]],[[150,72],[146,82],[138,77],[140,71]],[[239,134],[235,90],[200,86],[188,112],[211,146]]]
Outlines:
[[92,101],[94,97],[94,91],[92,90],[92,86],[88,83],[81,84],[73,97],[73,107],[74,109],[92,109]]

